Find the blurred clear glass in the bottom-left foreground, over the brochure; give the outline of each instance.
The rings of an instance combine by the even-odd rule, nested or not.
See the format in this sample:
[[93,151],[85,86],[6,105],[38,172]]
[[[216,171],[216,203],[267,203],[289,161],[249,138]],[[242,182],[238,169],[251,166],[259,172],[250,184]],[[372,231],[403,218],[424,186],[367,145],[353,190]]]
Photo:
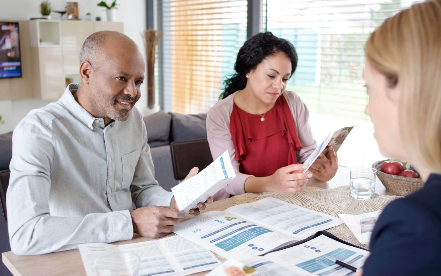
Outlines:
[[98,276],[138,276],[139,263],[134,253],[114,252],[97,257],[95,268]]

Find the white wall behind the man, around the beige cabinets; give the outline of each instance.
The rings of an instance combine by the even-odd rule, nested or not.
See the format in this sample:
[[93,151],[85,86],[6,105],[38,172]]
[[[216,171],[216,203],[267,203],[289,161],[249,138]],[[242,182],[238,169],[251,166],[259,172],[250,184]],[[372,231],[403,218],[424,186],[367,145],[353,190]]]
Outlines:
[[[66,0],[52,0],[52,11],[63,11]],[[97,7],[100,0],[76,0],[78,2],[78,13],[80,19],[85,19],[86,13],[92,14],[92,19],[100,16],[102,21],[107,20],[104,8]],[[29,20],[33,17],[40,17],[39,4],[41,0],[13,0],[1,1],[1,20]],[[111,0],[107,0],[110,4]],[[117,0],[116,21],[124,23],[124,34],[133,39],[145,56],[143,31],[146,29],[146,1],[145,0]],[[52,12],[52,19],[59,19],[59,14]],[[1,81],[1,80],[0,80]],[[143,116],[152,113],[147,109],[147,81],[141,86],[141,98],[136,106]],[[0,91],[1,93],[1,91]],[[5,123],[0,125],[0,134],[9,132],[15,128],[19,121],[26,114],[35,108],[40,108],[52,101],[41,101],[37,99],[26,99],[20,101],[0,101],[0,115],[4,117]],[[157,110],[157,108],[155,109]]]

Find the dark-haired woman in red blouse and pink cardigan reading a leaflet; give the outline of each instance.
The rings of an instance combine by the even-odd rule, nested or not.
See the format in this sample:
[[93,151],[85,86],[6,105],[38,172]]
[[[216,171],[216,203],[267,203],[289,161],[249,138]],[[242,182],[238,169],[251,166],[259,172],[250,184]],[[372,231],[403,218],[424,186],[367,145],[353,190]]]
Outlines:
[[[317,143],[308,123],[308,110],[299,96],[285,91],[297,67],[294,46],[285,39],[260,33],[239,50],[236,74],[225,81],[221,100],[207,114],[207,136],[213,159],[229,151],[236,179],[215,200],[245,192],[298,192],[307,178],[328,181],[337,158],[303,174],[303,163]],[[283,95],[283,96],[282,96]],[[280,97],[282,96],[282,97]]]

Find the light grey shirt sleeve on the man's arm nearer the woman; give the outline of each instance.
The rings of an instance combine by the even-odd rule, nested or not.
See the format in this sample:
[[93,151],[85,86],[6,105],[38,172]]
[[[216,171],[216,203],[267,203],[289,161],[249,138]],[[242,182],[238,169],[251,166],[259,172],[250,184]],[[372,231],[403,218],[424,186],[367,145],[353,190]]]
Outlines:
[[173,193],[167,192],[155,180],[152,154],[147,144],[146,125],[142,119],[139,128],[142,130],[142,148],[138,164],[135,167],[135,174],[130,186],[132,201],[136,208],[151,205],[170,206]]

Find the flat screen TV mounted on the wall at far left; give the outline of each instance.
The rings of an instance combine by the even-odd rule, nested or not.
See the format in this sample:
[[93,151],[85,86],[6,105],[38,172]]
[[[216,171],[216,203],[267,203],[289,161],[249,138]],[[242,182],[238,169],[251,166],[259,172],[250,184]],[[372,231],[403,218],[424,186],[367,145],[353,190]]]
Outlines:
[[18,22],[0,22],[0,78],[22,76]]

